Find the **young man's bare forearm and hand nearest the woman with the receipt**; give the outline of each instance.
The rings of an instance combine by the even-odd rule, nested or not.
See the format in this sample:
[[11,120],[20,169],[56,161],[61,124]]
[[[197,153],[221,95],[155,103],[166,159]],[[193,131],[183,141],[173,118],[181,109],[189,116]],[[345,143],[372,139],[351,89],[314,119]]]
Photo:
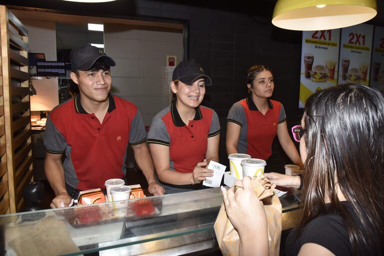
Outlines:
[[147,179],[149,192],[155,196],[164,195],[164,188],[155,179],[155,169],[147,143],[132,145],[132,148],[136,163]]

